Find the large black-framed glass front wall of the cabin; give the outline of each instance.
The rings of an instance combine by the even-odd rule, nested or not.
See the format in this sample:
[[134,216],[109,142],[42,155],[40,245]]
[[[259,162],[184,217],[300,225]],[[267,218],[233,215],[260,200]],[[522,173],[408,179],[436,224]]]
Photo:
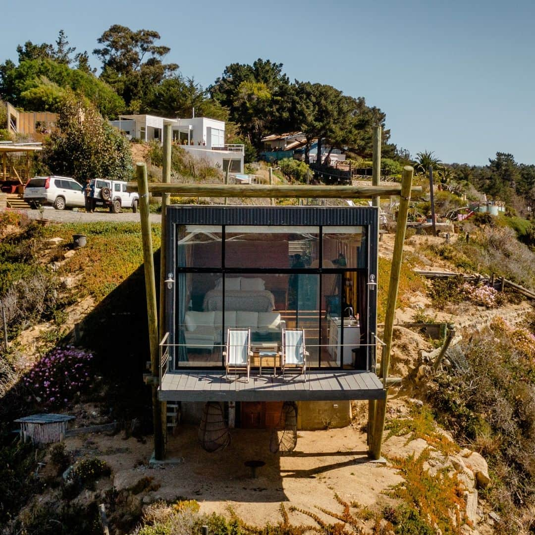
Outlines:
[[177,229],[175,368],[222,367],[236,327],[250,330],[253,369],[285,328],[304,330],[310,368],[354,367],[366,343],[366,226]]

